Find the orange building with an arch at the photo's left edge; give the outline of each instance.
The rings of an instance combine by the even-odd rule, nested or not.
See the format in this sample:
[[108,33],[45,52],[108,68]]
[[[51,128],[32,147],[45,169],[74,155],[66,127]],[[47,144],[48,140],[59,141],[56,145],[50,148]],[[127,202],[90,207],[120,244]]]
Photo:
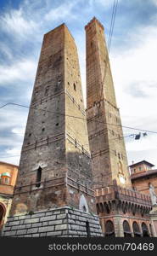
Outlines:
[[0,162],[0,230],[7,221],[17,174],[18,166]]

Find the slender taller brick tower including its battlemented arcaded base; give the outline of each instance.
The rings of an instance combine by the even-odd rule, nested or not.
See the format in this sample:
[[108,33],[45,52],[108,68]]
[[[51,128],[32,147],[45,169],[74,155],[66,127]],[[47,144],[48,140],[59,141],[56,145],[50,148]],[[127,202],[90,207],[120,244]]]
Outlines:
[[87,26],[87,129],[104,236],[151,236],[148,195],[132,190],[104,26]]

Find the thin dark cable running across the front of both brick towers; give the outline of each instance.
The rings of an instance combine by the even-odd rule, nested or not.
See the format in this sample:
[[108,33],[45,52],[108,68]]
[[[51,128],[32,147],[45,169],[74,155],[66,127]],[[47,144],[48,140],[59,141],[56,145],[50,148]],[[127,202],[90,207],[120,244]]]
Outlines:
[[[25,106],[25,105],[14,103],[14,102],[8,102],[5,105],[1,106],[0,108],[5,108],[8,105],[14,105],[14,106],[22,107],[22,108],[32,108],[32,109],[35,109],[35,110],[38,110],[38,111],[44,111],[44,112],[48,112],[48,113],[60,114],[60,115],[63,115],[63,116],[68,116],[68,117],[76,118],[76,119],[84,119],[84,118],[77,117],[77,116],[74,116],[74,115],[69,115],[69,114],[64,114],[64,113],[59,113],[59,112],[53,112],[53,111],[49,111],[49,110],[45,110],[45,109],[38,109],[38,108],[28,107],[28,106]],[[92,122],[97,122],[97,123],[101,123],[101,124],[104,124],[104,125],[119,126],[119,127],[122,127],[122,128],[131,129],[131,130],[135,130],[135,131],[146,131],[146,132],[149,132],[149,133],[157,134],[157,131],[149,131],[149,130],[139,129],[139,128],[135,128],[135,127],[131,127],[131,126],[110,124],[110,123],[107,123],[107,122],[102,122],[102,121],[98,121],[98,120],[94,120],[94,119],[84,119],[84,120],[92,121]]]

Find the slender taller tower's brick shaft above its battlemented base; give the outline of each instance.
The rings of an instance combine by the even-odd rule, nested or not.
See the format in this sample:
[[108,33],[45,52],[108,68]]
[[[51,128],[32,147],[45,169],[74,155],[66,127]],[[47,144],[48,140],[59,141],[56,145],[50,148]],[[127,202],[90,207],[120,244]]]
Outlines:
[[[93,18],[87,24],[87,128],[96,186],[131,187],[121,117],[104,39],[104,26]],[[101,184],[100,184],[101,183]]]

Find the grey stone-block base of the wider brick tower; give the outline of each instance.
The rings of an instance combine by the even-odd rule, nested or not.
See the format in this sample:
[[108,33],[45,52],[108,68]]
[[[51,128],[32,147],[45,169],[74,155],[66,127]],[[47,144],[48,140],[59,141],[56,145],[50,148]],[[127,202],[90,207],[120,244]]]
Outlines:
[[2,236],[42,237],[103,236],[97,215],[70,207],[8,217]]

